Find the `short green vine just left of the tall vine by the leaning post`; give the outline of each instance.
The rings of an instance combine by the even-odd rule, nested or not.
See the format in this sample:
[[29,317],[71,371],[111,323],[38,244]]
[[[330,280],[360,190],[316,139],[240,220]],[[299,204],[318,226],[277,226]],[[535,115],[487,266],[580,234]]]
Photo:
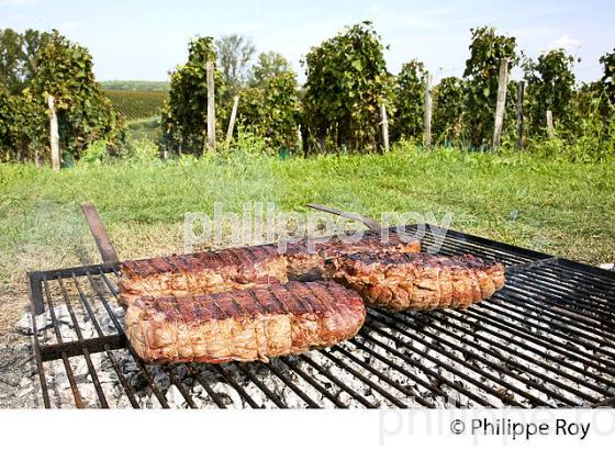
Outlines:
[[463,136],[466,87],[457,77],[446,77],[434,87],[432,134],[435,142],[448,145],[460,142]]

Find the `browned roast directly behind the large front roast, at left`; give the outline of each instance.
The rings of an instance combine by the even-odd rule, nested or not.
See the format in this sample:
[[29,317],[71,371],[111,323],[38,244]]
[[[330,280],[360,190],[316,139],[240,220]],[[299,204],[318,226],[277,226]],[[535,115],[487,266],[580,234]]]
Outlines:
[[284,283],[287,263],[275,245],[124,261],[120,299],[186,295]]

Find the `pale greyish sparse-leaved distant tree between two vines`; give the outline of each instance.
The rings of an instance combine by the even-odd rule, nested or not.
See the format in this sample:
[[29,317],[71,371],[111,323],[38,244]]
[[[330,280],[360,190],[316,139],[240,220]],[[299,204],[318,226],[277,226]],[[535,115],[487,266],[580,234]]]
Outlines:
[[217,61],[228,94],[235,95],[248,80],[248,69],[256,48],[249,37],[232,34],[215,42]]

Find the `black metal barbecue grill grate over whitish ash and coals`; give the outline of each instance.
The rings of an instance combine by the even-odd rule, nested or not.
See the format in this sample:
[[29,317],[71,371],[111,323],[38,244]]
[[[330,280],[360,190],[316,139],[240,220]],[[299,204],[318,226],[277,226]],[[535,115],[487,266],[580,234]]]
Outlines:
[[[354,339],[267,363],[147,365],[123,334],[119,265],[100,227],[92,230],[109,262],[29,273],[32,315],[46,312],[51,322],[32,324],[47,408],[614,404],[612,272],[448,230],[440,254],[507,267],[492,299],[467,311],[368,308]],[[434,244],[429,234],[422,240]]]

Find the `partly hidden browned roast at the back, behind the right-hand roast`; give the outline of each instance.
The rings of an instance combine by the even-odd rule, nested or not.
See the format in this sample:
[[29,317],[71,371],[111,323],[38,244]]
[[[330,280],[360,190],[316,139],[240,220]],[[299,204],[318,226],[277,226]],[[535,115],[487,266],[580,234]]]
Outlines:
[[390,234],[385,239],[376,234],[366,235],[353,243],[344,243],[340,238],[333,237],[315,244],[315,251],[310,251],[306,240],[289,244],[286,252],[289,279],[321,280],[325,270],[325,260],[340,255],[361,251],[409,254],[421,251],[421,241],[411,237],[405,240],[402,240],[398,234]]

